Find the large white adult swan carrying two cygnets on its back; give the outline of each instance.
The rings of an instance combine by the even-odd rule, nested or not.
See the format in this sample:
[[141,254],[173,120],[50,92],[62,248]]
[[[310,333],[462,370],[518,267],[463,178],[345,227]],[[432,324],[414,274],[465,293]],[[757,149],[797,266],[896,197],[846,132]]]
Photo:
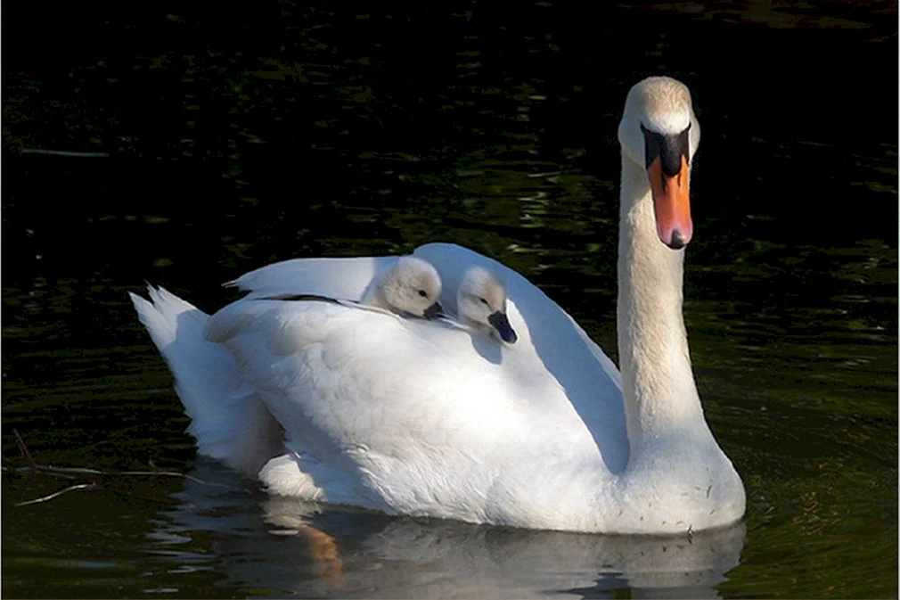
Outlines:
[[[685,86],[651,77],[629,92],[619,127],[621,378],[572,318],[524,277],[447,244],[414,253],[440,273],[442,302],[453,307],[453,292],[473,264],[501,273],[515,345],[495,344],[486,358],[465,332],[437,323],[326,303],[258,301],[292,286],[361,297],[392,257],[300,259],[240,277],[236,285],[250,295],[206,324],[232,362],[220,361],[221,346],[200,340],[195,328],[183,336],[182,315],[206,318],[193,307],[175,308],[171,299],[135,304],[180,388],[179,373],[205,380],[197,371],[185,375],[189,360],[201,372],[215,362],[249,390],[219,410],[233,405],[275,417],[219,423],[231,447],[218,449],[217,458],[252,468],[278,453],[272,440],[284,427],[291,451],[260,473],[275,494],[581,532],[723,526],[743,516],[743,484],[704,419],[681,314],[681,249],[691,236],[689,168],[698,139]],[[154,333],[165,327],[175,332],[174,345],[201,346],[201,359],[173,364],[174,353]],[[204,405],[194,410],[204,413],[218,402],[185,400],[181,389],[179,395],[189,414],[191,405]],[[219,433],[214,425],[193,427],[195,435]],[[211,448],[201,435],[198,446]],[[253,454],[249,446],[264,450],[244,460],[242,452]]]

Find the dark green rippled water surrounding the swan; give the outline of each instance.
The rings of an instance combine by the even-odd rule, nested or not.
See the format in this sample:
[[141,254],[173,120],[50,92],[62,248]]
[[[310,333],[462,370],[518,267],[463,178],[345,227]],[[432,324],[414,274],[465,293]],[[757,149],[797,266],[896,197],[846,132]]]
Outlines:
[[[4,595],[896,597],[896,4],[585,6],[4,6]],[[455,241],[615,358],[616,126],[662,73],[703,126],[685,310],[742,527],[329,510],[314,559],[302,507],[195,459],[144,279],[213,311],[274,260]],[[14,429],[41,465],[206,483],[33,476]]]

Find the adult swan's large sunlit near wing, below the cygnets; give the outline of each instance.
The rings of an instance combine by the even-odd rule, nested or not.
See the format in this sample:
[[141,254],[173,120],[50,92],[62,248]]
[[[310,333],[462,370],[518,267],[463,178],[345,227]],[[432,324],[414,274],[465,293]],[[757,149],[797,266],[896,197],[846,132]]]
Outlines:
[[544,513],[581,485],[574,471],[603,469],[531,352],[489,344],[498,355],[484,356],[441,323],[323,302],[240,300],[207,331],[284,426],[295,474],[330,502],[533,523],[555,518]]

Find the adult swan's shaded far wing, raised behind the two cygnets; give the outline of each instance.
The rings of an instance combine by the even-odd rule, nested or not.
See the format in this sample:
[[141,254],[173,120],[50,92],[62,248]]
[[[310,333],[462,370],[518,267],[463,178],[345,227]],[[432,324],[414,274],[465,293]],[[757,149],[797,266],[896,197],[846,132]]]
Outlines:
[[[437,268],[443,284],[441,304],[451,313],[458,312],[456,293],[468,268],[477,265],[506,279],[509,324],[518,335],[515,352],[518,356],[530,353],[533,368],[558,382],[599,445],[608,468],[614,473],[624,468],[629,450],[621,376],[572,316],[517,271],[473,250],[430,243],[412,255]],[[397,259],[285,260],[258,268],[234,283],[250,291],[247,298],[275,292],[361,299],[374,278]]]

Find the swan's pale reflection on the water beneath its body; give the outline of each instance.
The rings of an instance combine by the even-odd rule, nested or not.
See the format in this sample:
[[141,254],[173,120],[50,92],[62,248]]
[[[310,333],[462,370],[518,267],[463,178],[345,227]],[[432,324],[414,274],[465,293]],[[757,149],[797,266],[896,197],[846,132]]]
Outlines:
[[[689,540],[533,532],[322,510],[247,493],[253,484],[198,460],[162,515],[161,543],[198,540],[220,586],[340,597],[718,597],[743,549],[743,524]],[[171,548],[169,548],[171,550]]]

